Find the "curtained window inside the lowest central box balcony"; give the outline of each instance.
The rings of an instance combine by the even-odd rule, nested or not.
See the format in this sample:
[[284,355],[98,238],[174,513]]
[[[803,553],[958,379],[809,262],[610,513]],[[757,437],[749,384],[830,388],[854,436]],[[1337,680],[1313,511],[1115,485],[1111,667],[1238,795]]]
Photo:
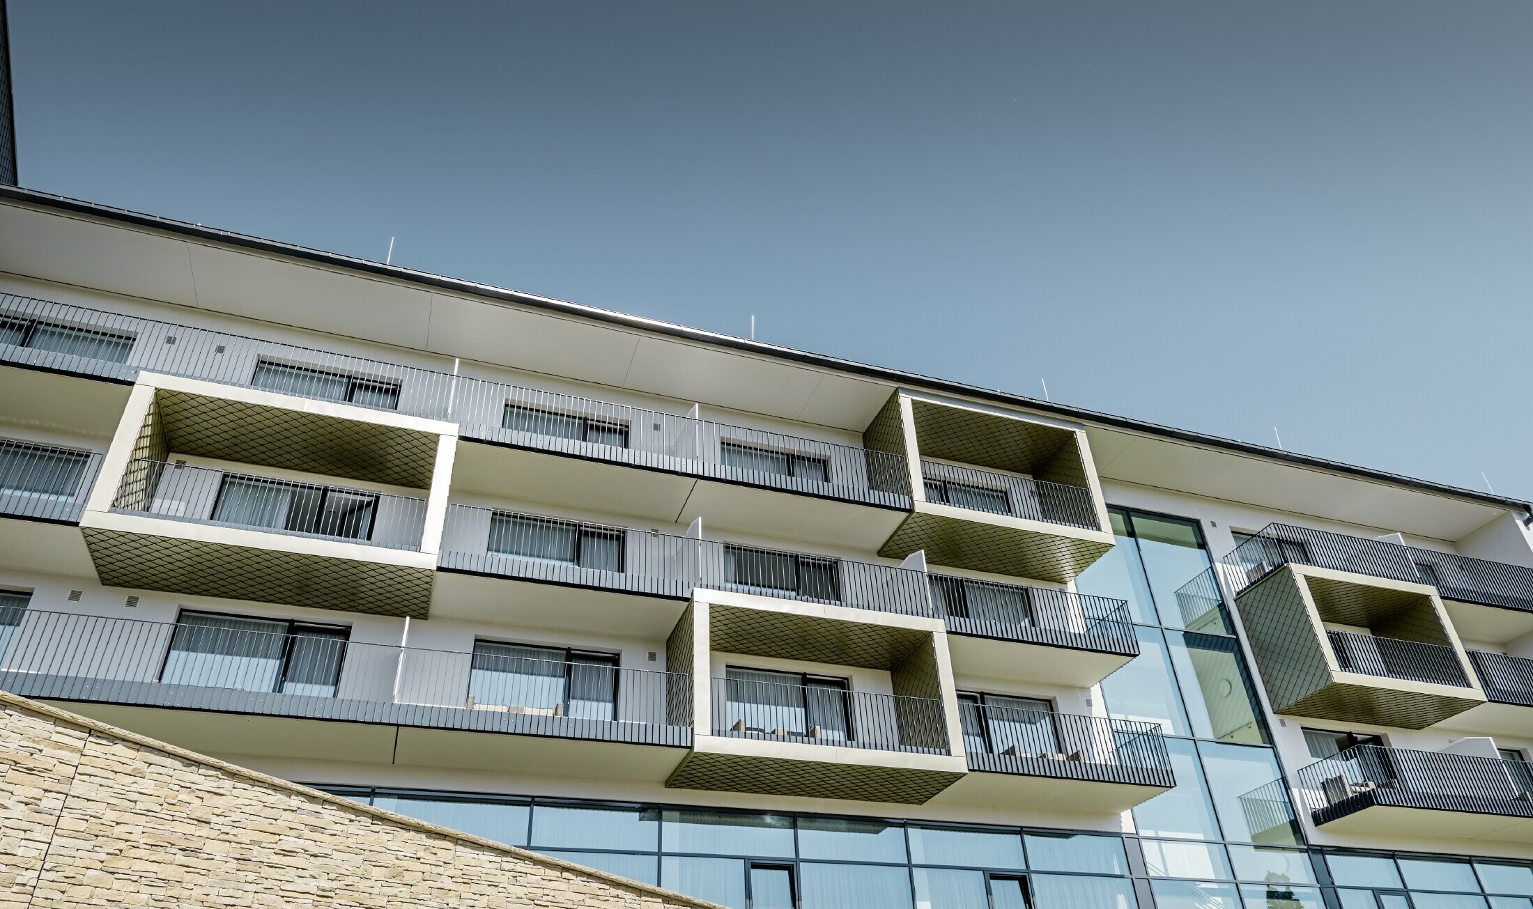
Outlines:
[[724,725],[736,733],[851,740],[846,679],[725,667]]

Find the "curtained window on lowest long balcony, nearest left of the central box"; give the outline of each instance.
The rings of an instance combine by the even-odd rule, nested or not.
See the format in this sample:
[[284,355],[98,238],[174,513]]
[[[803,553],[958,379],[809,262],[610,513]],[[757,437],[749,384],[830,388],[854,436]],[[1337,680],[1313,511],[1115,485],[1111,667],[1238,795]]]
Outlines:
[[616,719],[618,656],[475,641],[469,697],[481,710]]

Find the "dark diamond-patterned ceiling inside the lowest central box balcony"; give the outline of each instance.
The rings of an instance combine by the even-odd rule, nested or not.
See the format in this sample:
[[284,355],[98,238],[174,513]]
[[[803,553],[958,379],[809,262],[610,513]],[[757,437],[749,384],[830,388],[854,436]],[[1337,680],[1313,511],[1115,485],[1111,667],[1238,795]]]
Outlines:
[[710,604],[708,624],[713,650],[880,670],[892,670],[923,644],[931,645],[931,635],[914,628],[734,605]]

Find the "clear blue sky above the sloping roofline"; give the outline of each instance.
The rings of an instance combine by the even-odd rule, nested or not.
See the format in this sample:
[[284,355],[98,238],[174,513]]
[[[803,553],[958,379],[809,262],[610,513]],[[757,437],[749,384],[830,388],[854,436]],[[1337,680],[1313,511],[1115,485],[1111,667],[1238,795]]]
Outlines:
[[21,182],[1533,495],[1533,3],[11,0]]

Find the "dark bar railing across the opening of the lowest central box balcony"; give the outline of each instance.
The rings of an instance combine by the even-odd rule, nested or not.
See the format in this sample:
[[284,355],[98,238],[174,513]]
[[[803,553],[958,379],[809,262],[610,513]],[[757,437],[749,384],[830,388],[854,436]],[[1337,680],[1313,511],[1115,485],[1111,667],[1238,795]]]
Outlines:
[[713,734],[947,754],[941,701],[745,679],[713,679]]

